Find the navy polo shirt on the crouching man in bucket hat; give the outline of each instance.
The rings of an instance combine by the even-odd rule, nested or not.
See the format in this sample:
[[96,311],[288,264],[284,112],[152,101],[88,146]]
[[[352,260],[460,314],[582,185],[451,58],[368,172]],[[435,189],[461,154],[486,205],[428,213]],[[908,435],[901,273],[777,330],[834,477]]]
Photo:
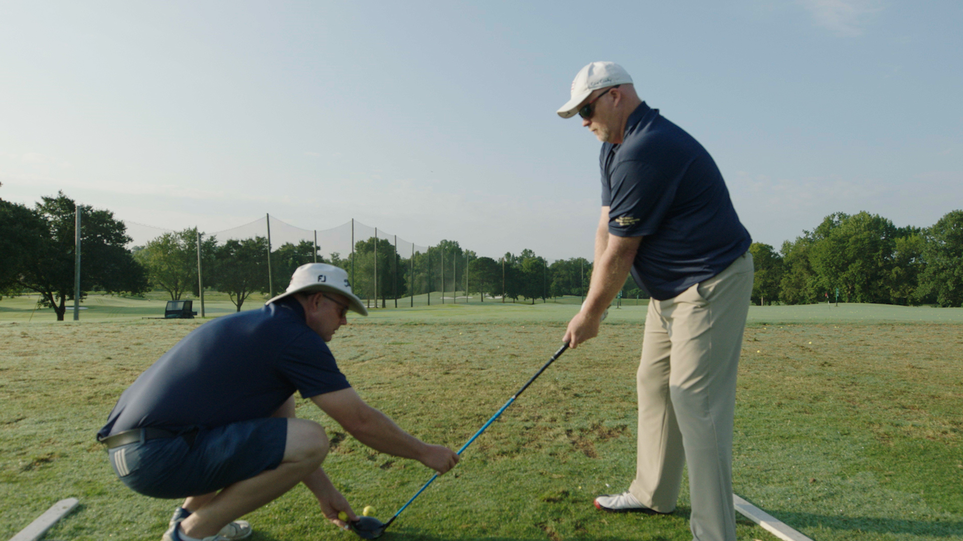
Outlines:
[[197,327],[123,392],[97,435],[270,417],[295,391],[307,399],[348,387],[298,300],[287,297]]

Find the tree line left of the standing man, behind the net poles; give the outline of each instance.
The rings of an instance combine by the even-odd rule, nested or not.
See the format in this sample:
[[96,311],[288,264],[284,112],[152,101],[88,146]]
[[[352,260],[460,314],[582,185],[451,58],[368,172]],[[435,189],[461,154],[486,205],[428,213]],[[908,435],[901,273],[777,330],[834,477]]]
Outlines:
[[[305,263],[325,262],[348,270],[353,291],[375,306],[388,299],[445,292],[485,298],[520,298],[534,303],[552,296],[584,295],[591,275],[585,258],[548,264],[530,249],[499,259],[479,257],[457,241],[441,241],[425,252],[399,254],[386,239],[358,241],[353,252],[324,257],[308,241],[270,249],[265,237],[220,242],[195,228],[168,232],[143,246],[111,211],[80,205],[63,192],[28,207],[0,199],[0,294],[39,294],[39,305],[64,321],[74,299],[75,217],[80,211],[80,300],[88,292],[143,295],[167,292],[171,300],[205,290],[226,294],[238,311],[251,295],[283,292]],[[634,284],[632,285],[634,287]],[[466,291],[468,293],[466,293]],[[638,293],[638,292],[637,292]],[[449,297],[450,298],[450,297]],[[435,302],[445,302],[435,297]]]

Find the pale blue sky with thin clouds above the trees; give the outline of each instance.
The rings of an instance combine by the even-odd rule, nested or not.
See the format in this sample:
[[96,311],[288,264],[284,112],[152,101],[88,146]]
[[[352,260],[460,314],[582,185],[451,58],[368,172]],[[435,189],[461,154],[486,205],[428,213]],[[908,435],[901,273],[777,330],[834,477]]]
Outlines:
[[0,197],[590,258],[599,142],[555,110],[611,60],[755,241],[927,226],[963,208],[960,28],[959,2],[7,2]]

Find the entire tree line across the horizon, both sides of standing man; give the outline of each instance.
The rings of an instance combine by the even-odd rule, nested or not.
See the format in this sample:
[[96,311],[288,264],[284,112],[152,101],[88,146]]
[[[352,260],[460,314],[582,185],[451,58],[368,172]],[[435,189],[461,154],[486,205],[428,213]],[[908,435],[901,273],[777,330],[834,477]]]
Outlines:
[[[388,240],[373,237],[356,242],[349,254],[325,258],[321,247],[308,241],[272,246],[269,255],[264,237],[220,242],[189,228],[128,249],[131,239],[113,213],[77,207],[58,193],[42,197],[33,208],[0,199],[0,293],[38,293],[39,304],[64,320],[74,296],[78,208],[83,212],[81,300],[92,291],[165,291],[171,300],[198,296],[199,267],[205,290],[226,294],[240,311],[251,295],[283,292],[300,265],[325,262],[348,270],[355,294],[373,307],[407,296],[430,299],[435,292],[534,303],[584,296],[592,271],[585,258],[549,263],[531,249],[491,258],[451,240],[400,254]],[[779,251],[761,243],[749,249],[756,304],[835,300],[837,288],[847,302],[963,304],[963,211],[950,212],[928,228],[898,228],[865,212],[836,213]],[[631,278],[622,294],[647,297]]]

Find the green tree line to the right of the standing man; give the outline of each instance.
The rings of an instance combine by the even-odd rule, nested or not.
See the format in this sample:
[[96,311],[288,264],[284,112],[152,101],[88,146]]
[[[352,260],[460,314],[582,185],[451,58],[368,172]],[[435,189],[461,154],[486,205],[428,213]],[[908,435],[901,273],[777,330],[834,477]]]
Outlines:
[[776,251],[754,243],[755,304],[963,305],[963,211],[927,228],[834,213]]

